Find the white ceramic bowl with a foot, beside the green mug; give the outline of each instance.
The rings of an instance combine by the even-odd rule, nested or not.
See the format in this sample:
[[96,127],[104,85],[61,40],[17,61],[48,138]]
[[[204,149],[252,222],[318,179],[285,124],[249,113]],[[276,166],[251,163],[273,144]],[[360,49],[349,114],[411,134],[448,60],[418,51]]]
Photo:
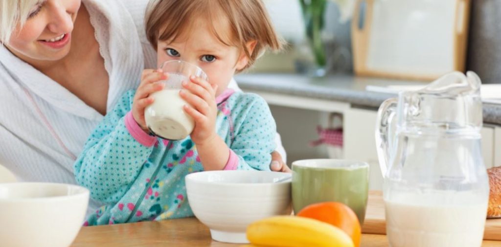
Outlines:
[[289,173],[273,171],[204,171],[186,176],[188,202],[210,228],[212,239],[248,243],[247,225],[266,217],[291,214]]

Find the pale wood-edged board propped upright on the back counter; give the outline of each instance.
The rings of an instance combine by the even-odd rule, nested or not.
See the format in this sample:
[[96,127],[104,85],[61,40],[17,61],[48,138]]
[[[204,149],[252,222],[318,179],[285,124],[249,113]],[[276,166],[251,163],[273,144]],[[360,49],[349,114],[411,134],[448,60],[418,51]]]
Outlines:
[[358,0],[356,75],[435,80],[464,71],[472,0]]

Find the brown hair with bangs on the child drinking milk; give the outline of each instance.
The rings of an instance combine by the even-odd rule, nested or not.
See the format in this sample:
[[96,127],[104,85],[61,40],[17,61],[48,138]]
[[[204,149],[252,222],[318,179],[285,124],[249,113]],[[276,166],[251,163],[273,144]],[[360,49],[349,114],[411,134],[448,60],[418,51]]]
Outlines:
[[[245,52],[249,61],[246,69],[267,48],[280,51],[283,41],[278,37],[261,0],[151,0],[148,4],[145,25],[146,37],[157,49],[157,41],[174,41],[189,32],[192,20],[206,18],[212,24],[217,39]],[[221,38],[215,29],[214,17],[224,17],[231,29],[231,40]],[[251,53],[248,42],[256,41]],[[242,69],[242,70],[243,70]]]

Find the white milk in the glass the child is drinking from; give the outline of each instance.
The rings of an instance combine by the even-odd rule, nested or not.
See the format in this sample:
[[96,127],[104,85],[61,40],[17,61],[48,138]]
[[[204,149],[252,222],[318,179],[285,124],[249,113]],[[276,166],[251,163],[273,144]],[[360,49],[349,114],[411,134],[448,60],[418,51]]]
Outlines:
[[188,78],[170,74],[165,89],[152,94],[155,101],[144,111],[146,126],[162,138],[184,139],[195,126],[193,118],[183,110],[183,105],[188,103],[179,96],[183,80],[187,81]]

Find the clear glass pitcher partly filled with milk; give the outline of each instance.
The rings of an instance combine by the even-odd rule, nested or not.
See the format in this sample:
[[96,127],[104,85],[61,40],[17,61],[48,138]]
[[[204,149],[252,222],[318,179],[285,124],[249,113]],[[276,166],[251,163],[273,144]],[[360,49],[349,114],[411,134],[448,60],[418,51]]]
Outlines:
[[390,246],[480,247],[489,196],[480,84],[473,72],[452,72],[379,108]]

